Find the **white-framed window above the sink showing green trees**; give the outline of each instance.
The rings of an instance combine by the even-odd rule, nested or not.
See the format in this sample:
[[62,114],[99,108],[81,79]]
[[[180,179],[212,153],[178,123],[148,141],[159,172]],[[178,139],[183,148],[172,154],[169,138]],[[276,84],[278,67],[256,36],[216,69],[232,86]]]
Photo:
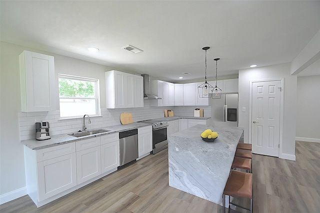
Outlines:
[[58,74],[60,117],[100,115],[99,80]]

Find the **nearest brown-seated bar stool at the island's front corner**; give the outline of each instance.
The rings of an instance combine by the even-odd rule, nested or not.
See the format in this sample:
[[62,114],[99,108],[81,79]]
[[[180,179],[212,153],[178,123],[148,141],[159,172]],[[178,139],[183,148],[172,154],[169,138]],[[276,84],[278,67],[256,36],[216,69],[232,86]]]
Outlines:
[[[231,204],[241,209],[249,210],[250,213],[252,213],[252,197],[253,197],[252,193],[253,193],[252,174],[231,170],[228,180],[226,181],[226,184],[223,190],[223,195],[222,195],[223,213],[225,213],[225,196],[226,195],[229,196],[228,212],[230,211],[230,204]],[[230,202],[230,196],[250,199],[250,209]]]

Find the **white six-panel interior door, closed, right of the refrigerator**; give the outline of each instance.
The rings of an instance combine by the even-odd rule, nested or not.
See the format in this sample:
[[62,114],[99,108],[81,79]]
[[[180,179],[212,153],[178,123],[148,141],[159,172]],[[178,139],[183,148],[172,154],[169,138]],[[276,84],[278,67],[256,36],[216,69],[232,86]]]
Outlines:
[[252,153],[279,156],[280,81],[252,83]]

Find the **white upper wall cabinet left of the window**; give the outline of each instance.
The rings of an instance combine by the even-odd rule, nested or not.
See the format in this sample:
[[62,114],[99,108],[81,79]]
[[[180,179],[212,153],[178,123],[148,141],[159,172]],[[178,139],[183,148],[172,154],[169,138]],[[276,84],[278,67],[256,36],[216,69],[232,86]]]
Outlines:
[[19,66],[21,111],[55,111],[54,57],[23,51]]

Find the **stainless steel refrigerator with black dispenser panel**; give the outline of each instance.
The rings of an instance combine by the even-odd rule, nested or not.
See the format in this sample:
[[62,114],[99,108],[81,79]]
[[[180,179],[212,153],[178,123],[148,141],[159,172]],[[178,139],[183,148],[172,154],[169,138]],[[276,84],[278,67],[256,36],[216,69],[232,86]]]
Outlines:
[[210,99],[211,121],[225,126],[238,126],[238,94],[222,94]]

